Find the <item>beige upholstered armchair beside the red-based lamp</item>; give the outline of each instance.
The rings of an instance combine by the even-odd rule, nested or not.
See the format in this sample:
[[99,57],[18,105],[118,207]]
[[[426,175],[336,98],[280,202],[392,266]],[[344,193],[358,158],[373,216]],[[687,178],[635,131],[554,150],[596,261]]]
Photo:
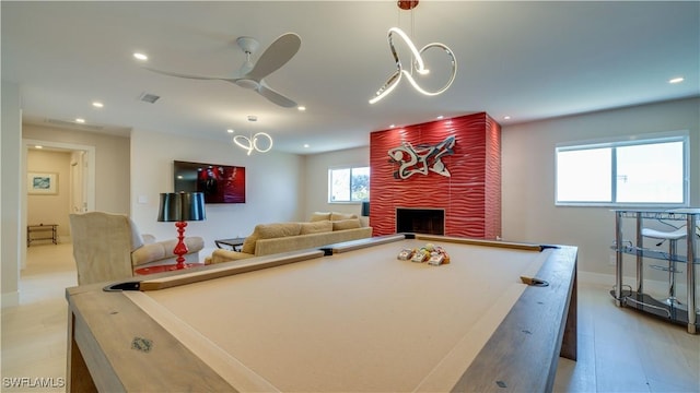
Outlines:
[[[139,234],[133,222],[122,214],[90,212],[70,214],[73,258],[78,285],[129,278],[137,267],[174,264],[177,239],[155,241]],[[201,237],[186,237],[187,262],[199,262],[205,247]]]

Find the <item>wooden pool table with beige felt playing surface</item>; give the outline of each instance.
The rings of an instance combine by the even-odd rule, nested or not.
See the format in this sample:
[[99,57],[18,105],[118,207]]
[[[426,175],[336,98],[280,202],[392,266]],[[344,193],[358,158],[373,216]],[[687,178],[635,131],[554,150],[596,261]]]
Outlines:
[[68,391],[551,391],[576,253],[400,234],[68,288]]

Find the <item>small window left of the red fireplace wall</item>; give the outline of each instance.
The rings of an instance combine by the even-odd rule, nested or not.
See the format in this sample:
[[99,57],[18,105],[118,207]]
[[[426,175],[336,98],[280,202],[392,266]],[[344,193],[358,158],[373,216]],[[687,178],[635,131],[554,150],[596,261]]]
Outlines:
[[328,169],[328,202],[370,200],[370,167]]

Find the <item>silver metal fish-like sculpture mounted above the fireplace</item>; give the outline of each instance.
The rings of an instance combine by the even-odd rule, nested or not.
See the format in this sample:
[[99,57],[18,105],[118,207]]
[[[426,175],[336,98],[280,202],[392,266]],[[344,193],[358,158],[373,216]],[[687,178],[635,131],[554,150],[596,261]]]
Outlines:
[[454,146],[455,136],[453,135],[434,145],[421,143],[413,146],[404,142],[398,147],[389,148],[389,163],[399,164],[394,178],[407,179],[417,174],[428,175],[429,171],[450,177],[450,170],[442,162],[442,157],[453,155]]

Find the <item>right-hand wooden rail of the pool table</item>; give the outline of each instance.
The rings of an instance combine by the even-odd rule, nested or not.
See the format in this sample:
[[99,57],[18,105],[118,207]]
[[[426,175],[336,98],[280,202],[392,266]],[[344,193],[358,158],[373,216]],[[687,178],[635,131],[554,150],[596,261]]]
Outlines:
[[551,392],[559,356],[576,360],[576,248],[545,252],[551,255],[537,277],[549,286],[525,289],[455,391]]

